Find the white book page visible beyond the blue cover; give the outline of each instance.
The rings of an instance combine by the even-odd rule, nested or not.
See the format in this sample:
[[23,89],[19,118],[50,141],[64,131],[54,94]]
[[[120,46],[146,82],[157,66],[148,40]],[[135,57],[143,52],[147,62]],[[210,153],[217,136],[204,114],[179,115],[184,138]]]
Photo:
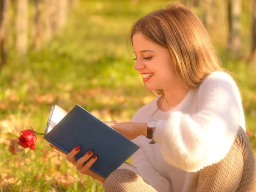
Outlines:
[[54,105],[54,109],[52,111],[52,116],[49,119],[49,126],[47,129],[47,133],[49,133],[58,122],[63,119],[64,116],[67,115],[67,111],[60,108],[58,105]]

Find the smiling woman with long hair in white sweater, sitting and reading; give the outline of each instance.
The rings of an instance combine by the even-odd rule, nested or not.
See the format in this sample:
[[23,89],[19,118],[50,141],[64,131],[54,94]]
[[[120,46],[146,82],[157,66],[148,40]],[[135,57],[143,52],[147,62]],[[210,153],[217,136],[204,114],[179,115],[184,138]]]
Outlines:
[[174,3],[134,23],[131,41],[134,69],[158,97],[132,122],[107,124],[140,146],[132,156],[137,169],[124,164],[105,180],[89,169],[97,157],[83,165],[91,151],[76,161],[73,149],[67,160],[106,192],[256,191],[239,89],[198,17]]

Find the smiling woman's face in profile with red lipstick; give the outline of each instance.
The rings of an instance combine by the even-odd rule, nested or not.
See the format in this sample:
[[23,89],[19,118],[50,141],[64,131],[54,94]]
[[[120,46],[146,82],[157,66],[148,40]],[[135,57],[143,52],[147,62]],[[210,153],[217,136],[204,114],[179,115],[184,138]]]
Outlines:
[[136,56],[134,69],[140,72],[148,90],[168,91],[180,86],[168,49],[148,41],[141,33],[135,34],[132,42]]

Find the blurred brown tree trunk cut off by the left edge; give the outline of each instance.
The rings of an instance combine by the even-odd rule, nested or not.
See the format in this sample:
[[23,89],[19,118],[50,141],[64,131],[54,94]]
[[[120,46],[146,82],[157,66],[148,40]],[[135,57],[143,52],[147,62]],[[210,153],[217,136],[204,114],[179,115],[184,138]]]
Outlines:
[[3,64],[6,63],[8,54],[8,20],[9,20],[10,0],[0,0],[0,46],[1,46],[1,61],[0,70]]

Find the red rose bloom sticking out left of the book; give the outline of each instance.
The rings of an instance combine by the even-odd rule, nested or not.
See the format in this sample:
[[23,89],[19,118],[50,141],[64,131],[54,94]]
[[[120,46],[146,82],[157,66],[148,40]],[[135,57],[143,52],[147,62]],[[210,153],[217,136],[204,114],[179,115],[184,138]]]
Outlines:
[[35,132],[33,130],[25,130],[25,131],[20,131],[22,135],[20,135],[19,139],[19,145],[24,147],[24,148],[30,148],[31,150],[35,150],[35,142],[36,142],[36,137],[35,137]]

